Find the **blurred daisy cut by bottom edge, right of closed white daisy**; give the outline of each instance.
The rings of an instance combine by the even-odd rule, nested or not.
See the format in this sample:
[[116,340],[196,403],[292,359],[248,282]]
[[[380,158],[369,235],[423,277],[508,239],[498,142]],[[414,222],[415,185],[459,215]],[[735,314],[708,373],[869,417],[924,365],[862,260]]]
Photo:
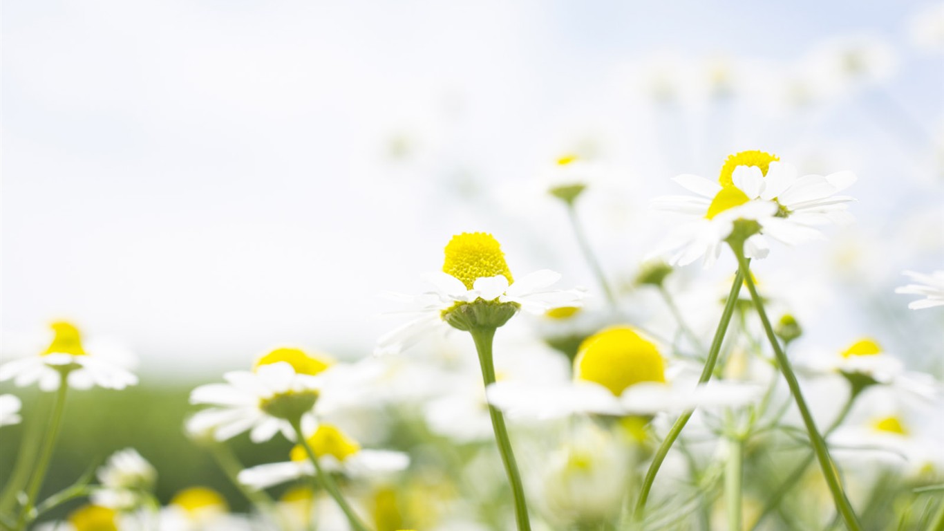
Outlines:
[[161,509],[160,531],[248,531],[244,517],[230,514],[226,499],[207,487],[185,488]]

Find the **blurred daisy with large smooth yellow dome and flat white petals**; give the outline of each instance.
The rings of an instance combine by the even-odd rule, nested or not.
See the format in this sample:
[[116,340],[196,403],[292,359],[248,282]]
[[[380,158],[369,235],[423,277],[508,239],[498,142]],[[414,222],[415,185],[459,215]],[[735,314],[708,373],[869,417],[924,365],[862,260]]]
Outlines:
[[695,385],[666,378],[666,360],[648,339],[628,326],[591,335],[574,360],[574,381],[552,385],[498,382],[489,403],[509,415],[547,419],[577,413],[651,415],[701,406],[740,405],[759,392],[754,385]]

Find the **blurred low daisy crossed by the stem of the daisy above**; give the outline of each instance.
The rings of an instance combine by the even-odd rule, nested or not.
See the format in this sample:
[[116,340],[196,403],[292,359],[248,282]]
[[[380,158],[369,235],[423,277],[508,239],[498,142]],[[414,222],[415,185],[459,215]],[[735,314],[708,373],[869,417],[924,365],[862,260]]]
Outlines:
[[[362,449],[356,440],[330,424],[319,425],[307,442],[326,471],[339,471],[349,476],[402,471],[410,464],[410,458],[400,452]],[[300,444],[295,445],[290,457],[290,461],[245,469],[240,472],[239,481],[251,488],[269,488],[315,474],[314,465]]]

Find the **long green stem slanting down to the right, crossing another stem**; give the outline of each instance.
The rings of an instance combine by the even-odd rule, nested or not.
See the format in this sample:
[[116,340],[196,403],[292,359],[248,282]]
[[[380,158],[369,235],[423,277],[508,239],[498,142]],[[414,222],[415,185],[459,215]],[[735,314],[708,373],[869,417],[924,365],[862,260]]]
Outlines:
[[761,323],[764,325],[764,331],[767,333],[767,340],[770,342],[770,346],[773,347],[774,355],[777,357],[777,364],[780,366],[780,370],[784,374],[786,385],[790,387],[790,394],[793,395],[793,400],[797,403],[797,409],[800,410],[800,415],[803,418],[803,424],[806,426],[806,432],[810,437],[810,442],[813,444],[813,451],[817,454],[819,468],[822,469],[823,475],[826,477],[826,484],[829,486],[830,492],[833,494],[833,501],[835,503],[836,510],[840,515],[842,515],[842,519],[846,523],[846,527],[853,531],[859,531],[862,526],[855,516],[855,511],[852,510],[849,499],[846,498],[846,493],[842,489],[842,484],[839,482],[839,476],[833,466],[833,460],[830,457],[829,449],[826,447],[826,440],[822,435],[820,435],[817,429],[816,421],[813,420],[813,415],[810,413],[810,408],[803,399],[803,394],[800,388],[800,382],[797,380],[797,375],[793,372],[793,368],[790,366],[790,360],[786,357],[784,349],[781,348],[780,342],[777,339],[777,335],[773,332],[773,326],[770,325],[770,319],[767,318],[767,311],[764,309],[764,301],[761,300],[760,295],[758,295],[757,287],[754,285],[754,281],[750,277],[750,266],[748,264],[748,260],[744,257],[743,241],[739,245],[732,244],[731,248],[733,249],[734,254],[737,256],[738,266],[740,266],[741,271],[744,273],[744,282],[748,285],[750,299],[754,301],[754,308],[756,308],[757,315],[761,318]]

